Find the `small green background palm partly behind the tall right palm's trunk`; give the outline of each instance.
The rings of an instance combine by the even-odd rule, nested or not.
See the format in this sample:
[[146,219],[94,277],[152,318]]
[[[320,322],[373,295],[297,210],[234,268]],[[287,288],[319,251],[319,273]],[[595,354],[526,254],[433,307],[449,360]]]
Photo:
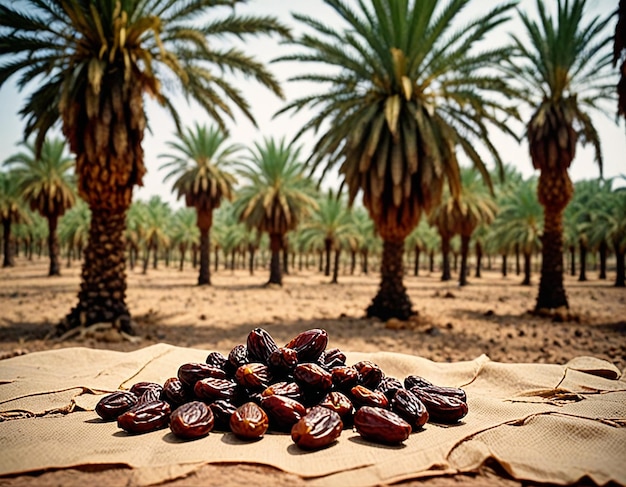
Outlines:
[[517,248],[524,257],[523,285],[530,285],[532,256],[541,250],[543,211],[537,200],[537,179],[521,181],[498,199],[499,212],[491,240],[503,256]]

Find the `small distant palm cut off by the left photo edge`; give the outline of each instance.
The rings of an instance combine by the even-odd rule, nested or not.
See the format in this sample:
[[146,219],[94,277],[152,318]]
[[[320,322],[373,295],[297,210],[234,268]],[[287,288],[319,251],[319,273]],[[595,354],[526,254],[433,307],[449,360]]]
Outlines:
[[18,186],[18,178],[13,171],[0,171],[0,219],[2,220],[2,267],[11,267],[14,265],[11,226],[28,219]]

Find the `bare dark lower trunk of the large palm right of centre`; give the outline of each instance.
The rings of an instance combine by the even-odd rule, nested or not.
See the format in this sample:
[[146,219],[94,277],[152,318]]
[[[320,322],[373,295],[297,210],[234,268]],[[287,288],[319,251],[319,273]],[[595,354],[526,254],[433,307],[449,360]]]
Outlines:
[[378,294],[367,308],[367,316],[383,321],[390,318],[407,320],[415,312],[402,282],[404,241],[383,241],[381,282]]

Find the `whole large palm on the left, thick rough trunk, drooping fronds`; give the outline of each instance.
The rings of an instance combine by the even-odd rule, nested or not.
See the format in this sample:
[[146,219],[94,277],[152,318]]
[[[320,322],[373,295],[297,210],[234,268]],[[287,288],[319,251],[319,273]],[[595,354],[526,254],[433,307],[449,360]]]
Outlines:
[[124,229],[133,188],[146,171],[144,96],[180,126],[168,94],[184,93],[224,126],[224,118],[234,118],[232,105],[254,121],[226,73],[253,77],[281,95],[264,65],[223,41],[288,31],[271,17],[219,9],[237,3],[25,0],[0,6],[0,87],[16,74],[19,86],[36,86],[21,110],[25,135],[37,133],[39,150],[48,129],[61,121],[76,155],[79,194],[91,209],[78,304],[59,332],[99,322],[133,332]]

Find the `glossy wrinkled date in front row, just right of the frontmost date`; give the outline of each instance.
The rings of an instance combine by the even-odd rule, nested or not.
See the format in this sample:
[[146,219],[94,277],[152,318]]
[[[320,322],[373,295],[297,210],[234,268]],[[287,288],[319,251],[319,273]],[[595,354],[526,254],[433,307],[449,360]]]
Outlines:
[[366,440],[395,445],[411,434],[411,425],[388,409],[363,406],[354,415],[354,427]]

